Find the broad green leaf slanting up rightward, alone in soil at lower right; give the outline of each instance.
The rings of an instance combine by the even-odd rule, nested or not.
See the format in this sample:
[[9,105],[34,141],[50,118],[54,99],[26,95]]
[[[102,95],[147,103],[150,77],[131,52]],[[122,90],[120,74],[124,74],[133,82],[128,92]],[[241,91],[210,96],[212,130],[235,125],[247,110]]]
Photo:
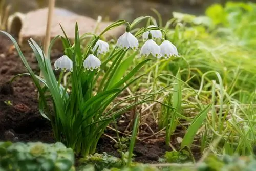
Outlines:
[[212,104],[209,104],[206,106],[204,110],[202,110],[192,121],[191,125],[188,127],[188,130],[182,140],[181,148],[184,148],[185,146],[190,147],[193,143],[193,140],[195,138],[195,135],[198,131],[198,129],[201,127],[205,117],[207,116],[210,107]]

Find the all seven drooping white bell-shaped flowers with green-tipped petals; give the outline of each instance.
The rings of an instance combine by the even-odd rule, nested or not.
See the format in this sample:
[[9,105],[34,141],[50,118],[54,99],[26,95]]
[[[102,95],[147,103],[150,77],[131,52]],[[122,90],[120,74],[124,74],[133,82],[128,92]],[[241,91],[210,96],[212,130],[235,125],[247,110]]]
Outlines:
[[[155,26],[150,25],[147,29],[153,28]],[[146,41],[144,45],[141,47],[139,57],[147,57],[150,54],[156,58],[170,58],[172,56],[178,57],[178,50],[172,42],[167,39],[165,34],[164,41],[159,46],[155,41],[157,39],[162,39],[162,32],[161,30],[146,30],[142,34],[143,41]],[[131,48],[133,50],[139,49],[139,41],[138,39],[130,32],[130,27],[127,26],[126,31],[123,35],[121,35],[117,40],[117,47],[122,49]],[[98,40],[95,46],[92,49],[93,52],[97,51],[97,55],[105,54],[109,51],[109,44],[103,40]],[[100,60],[93,55],[93,53],[89,54],[87,58],[83,61],[83,67],[86,70],[93,71],[94,69],[99,69],[101,65]],[[54,63],[55,69],[62,69],[62,70],[70,70],[72,71],[73,62],[72,60],[63,55],[59,59],[57,59]]]

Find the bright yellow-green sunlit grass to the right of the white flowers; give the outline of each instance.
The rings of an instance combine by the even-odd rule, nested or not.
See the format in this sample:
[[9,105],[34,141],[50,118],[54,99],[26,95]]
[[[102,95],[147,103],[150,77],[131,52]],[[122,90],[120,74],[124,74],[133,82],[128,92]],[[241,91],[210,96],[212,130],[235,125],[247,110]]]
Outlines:
[[[219,26],[214,30],[184,22],[166,30],[182,58],[151,61],[151,65],[143,71],[147,74],[137,86],[130,88],[151,92],[169,85],[173,92],[155,96],[154,99],[173,106],[175,102],[168,101],[175,98],[176,75],[180,72],[180,112],[166,113],[167,109],[156,105],[148,110],[146,116],[152,118],[151,122],[143,120],[149,122],[147,125],[153,122],[158,124],[159,132],[154,133],[153,137],[166,134],[177,137],[174,133],[177,126],[183,130],[179,136],[184,136],[193,119],[207,104],[213,103],[206,120],[196,130],[195,140],[200,143],[195,141],[193,146],[200,148],[202,153],[253,154],[256,142],[256,41],[253,40],[255,35],[252,30],[255,30],[255,26],[252,16],[254,13],[244,15],[243,22],[238,22],[236,26]],[[143,109],[147,106],[143,104]],[[161,121],[163,116],[169,118],[167,122]],[[179,148],[172,146],[172,143],[170,141],[169,145],[178,151]]]

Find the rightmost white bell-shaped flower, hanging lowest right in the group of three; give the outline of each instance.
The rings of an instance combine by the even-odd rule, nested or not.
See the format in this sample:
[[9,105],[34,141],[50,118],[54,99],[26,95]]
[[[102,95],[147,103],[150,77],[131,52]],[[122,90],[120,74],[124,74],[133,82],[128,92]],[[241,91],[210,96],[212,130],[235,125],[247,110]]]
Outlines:
[[169,58],[172,56],[179,56],[177,48],[169,40],[164,40],[160,45],[160,48],[162,57]]

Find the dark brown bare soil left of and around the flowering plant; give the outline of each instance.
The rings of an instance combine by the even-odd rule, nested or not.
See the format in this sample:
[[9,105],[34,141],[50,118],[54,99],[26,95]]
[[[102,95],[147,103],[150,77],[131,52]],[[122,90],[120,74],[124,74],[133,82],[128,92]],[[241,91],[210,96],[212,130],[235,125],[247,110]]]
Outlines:
[[[22,76],[12,84],[9,83],[14,75],[26,73],[27,70],[12,42],[2,34],[0,39],[0,141],[54,143],[50,122],[38,112],[37,92],[31,78]],[[23,54],[32,70],[39,74],[33,53],[23,49]],[[52,64],[61,55],[61,52],[53,50],[51,52]],[[113,134],[110,130],[106,130],[106,133]],[[164,140],[154,143],[137,141],[134,148],[135,161],[142,163],[158,161],[166,151],[163,142]],[[113,140],[102,136],[97,152],[106,152],[119,157],[114,145]]]

